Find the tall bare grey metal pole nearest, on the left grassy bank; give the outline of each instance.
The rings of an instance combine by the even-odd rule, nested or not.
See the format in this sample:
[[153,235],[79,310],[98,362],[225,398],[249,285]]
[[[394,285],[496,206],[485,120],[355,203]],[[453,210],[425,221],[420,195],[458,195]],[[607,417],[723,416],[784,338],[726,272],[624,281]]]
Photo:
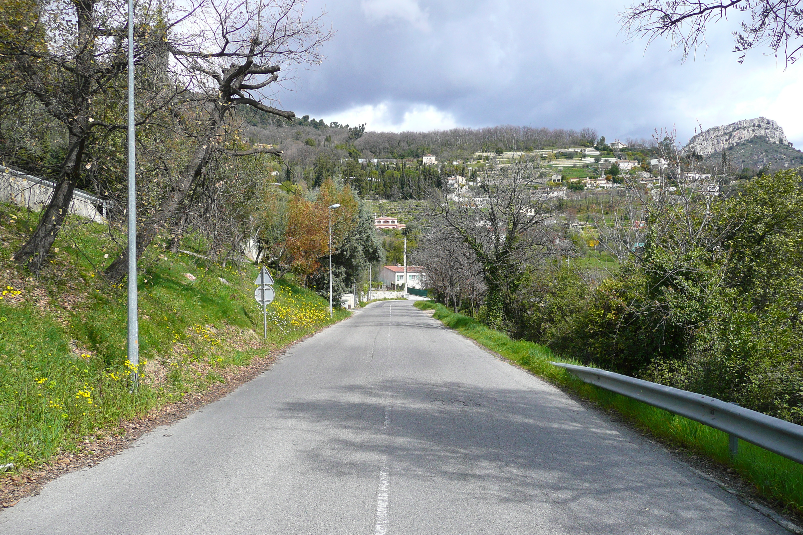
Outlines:
[[137,160],[134,145],[134,0],[128,0],[128,364],[139,381],[137,320]]

